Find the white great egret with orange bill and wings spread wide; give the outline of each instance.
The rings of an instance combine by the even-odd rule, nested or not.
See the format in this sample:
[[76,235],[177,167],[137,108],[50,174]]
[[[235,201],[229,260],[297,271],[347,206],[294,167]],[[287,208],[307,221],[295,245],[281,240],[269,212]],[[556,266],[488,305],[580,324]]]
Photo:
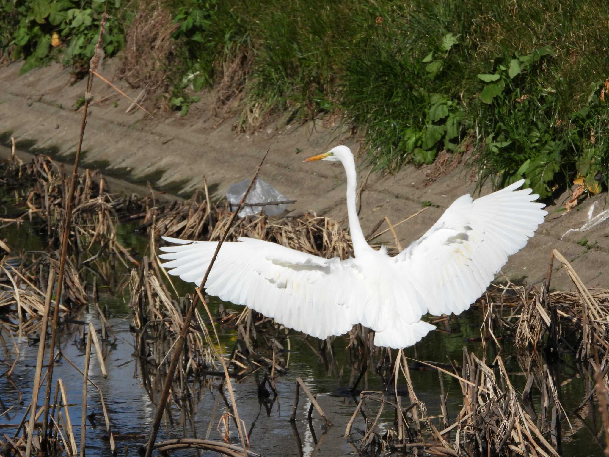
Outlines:
[[[530,189],[506,188],[473,200],[459,197],[399,255],[366,243],[356,211],[356,169],[347,146],[305,161],[340,161],[347,172],[347,210],[354,258],[322,258],[253,238],[224,243],[206,283],[208,294],[248,306],[285,327],[317,338],[342,335],[354,324],[376,331],[375,345],[415,344],[435,327],[426,313],[459,314],[533,236],[547,211]],[[163,239],[172,275],[199,284],[216,241]]]

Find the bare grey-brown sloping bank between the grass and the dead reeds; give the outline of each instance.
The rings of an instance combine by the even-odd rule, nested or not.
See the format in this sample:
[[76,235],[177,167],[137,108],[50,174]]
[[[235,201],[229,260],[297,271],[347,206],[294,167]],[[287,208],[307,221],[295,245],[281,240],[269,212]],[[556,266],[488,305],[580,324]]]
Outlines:
[[[117,60],[107,62],[102,71],[109,79]],[[72,106],[83,96],[85,82],[70,85],[70,75],[54,64],[19,76],[19,64],[0,69],[0,134],[4,140],[14,136],[22,149],[50,152],[69,159],[76,149],[80,118]],[[124,81],[114,81],[135,99],[139,89]],[[337,220],[345,220],[345,177],[340,165],[302,163],[309,155],[327,151],[336,144],[358,150],[357,138],[340,127],[325,128],[320,122],[275,124],[257,135],[236,135],[234,118],[220,119],[211,113],[211,96],[192,105],[184,118],[153,118],[133,109],[131,102],[100,80],[93,85],[85,133],[83,166],[100,168],[104,174],[131,181],[149,181],[169,193],[187,193],[202,183],[218,199],[232,183],[248,179],[259,159],[270,149],[261,178],[281,193],[296,199],[292,211],[312,210]],[[152,96],[149,96],[152,97]],[[150,103],[150,99],[144,100]],[[401,246],[421,236],[457,197],[475,187],[470,170],[457,166],[427,185],[429,169],[406,167],[396,175],[368,175],[360,161],[359,179],[365,180],[361,197],[361,223],[370,232],[385,216],[393,224],[429,205],[426,211],[396,227]],[[482,193],[490,189],[485,186]],[[602,194],[584,202],[569,213],[556,213],[566,195],[549,208],[546,223],[527,247],[504,267],[505,275],[517,282],[538,283],[543,279],[552,248],[570,260],[588,286],[606,285],[609,265],[609,219],[587,231],[579,229],[602,219],[607,196]],[[384,228],[384,227],[383,227]],[[576,230],[573,230],[576,229]],[[569,230],[571,230],[569,232]],[[375,239],[394,244],[390,232]],[[565,271],[552,275],[552,287],[571,289]],[[502,279],[499,275],[498,280]]]

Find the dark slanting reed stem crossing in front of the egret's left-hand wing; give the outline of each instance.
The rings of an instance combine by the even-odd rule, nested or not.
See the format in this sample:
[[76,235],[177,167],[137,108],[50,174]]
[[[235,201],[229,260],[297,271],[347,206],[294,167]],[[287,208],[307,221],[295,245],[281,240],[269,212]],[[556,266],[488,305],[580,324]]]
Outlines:
[[[204,288],[205,288],[205,283],[207,282],[207,277],[209,275],[209,272],[211,271],[211,267],[213,266],[214,261],[216,261],[216,257],[218,255],[220,247],[222,247],[222,243],[224,243],[224,240],[227,238],[228,232],[230,232],[231,227],[233,227],[234,220],[236,219],[239,211],[241,211],[241,208],[243,207],[243,204],[245,203],[245,198],[250,193],[250,190],[252,189],[252,185],[256,181],[256,178],[258,177],[258,173],[260,172],[260,169],[262,168],[262,163],[264,163],[264,159],[266,159],[266,156],[267,156],[267,154],[269,154],[269,151],[267,151],[266,154],[264,154],[264,157],[262,157],[262,160],[260,161],[260,165],[258,165],[258,169],[256,169],[256,172],[254,174],[254,177],[252,178],[252,181],[250,182],[250,185],[247,186],[247,190],[245,190],[243,197],[241,197],[241,201],[239,202],[239,208],[237,208],[237,210],[232,214],[230,221],[228,222],[228,226],[227,226],[226,230],[224,231],[224,236],[222,236],[222,239],[220,239],[219,243],[216,246],[216,252],[214,252],[213,257],[211,258],[211,262],[209,263],[209,266],[207,267],[207,271],[205,272],[205,276],[203,276],[203,280],[201,282],[201,285],[199,286],[200,290],[204,290]],[[152,430],[150,430],[150,438],[148,439],[148,444],[146,445],[146,457],[150,457],[150,455],[152,455],[152,449],[154,447],[154,442],[157,439],[158,428],[161,425],[161,419],[163,418],[165,405],[167,404],[167,397],[169,397],[169,390],[171,389],[171,384],[172,384],[172,381],[174,380],[175,369],[178,366],[178,361],[180,360],[180,354],[182,352],[182,348],[184,346],[184,342],[186,339],[185,338],[186,331],[190,327],[190,323],[192,320],[192,314],[194,313],[194,309],[196,308],[198,301],[199,301],[199,294],[195,294],[194,297],[192,297],[192,302],[191,302],[190,307],[188,308],[188,313],[186,314],[186,317],[184,319],[184,323],[182,325],[180,335],[178,335],[177,344],[175,345],[175,349],[174,349],[174,355],[171,359],[171,364],[169,364],[169,369],[167,370],[167,376],[165,377],[165,382],[163,384],[163,392],[161,392],[161,397],[160,397],[158,405],[157,405],[157,411],[155,413],[154,422],[152,423]],[[236,408],[234,410],[236,411]],[[237,421],[239,423],[238,417],[235,417],[235,419],[237,419]],[[239,435],[241,436],[241,433],[239,433]],[[244,442],[243,436],[241,436],[241,444],[245,451],[245,442]]]

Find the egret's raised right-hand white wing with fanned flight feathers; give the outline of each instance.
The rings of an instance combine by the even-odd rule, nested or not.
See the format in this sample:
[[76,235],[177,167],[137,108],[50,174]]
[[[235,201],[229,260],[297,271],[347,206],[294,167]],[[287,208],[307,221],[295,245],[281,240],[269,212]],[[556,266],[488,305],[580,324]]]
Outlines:
[[544,221],[544,204],[519,180],[473,200],[464,195],[420,239],[393,257],[411,279],[423,313],[459,314],[484,293],[507,257]]

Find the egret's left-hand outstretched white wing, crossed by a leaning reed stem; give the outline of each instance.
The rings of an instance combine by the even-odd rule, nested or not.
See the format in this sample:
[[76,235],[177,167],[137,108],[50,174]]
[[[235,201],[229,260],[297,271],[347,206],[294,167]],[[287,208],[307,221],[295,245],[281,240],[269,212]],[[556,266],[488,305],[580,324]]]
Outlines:
[[[197,285],[214,255],[215,241],[188,241],[163,236],[179,246],[161,247],[169,274]],[[350,261],[325,259],[253,238],[220,247],[206,282],[206,292],[246,305],[280,324],[317,338],[342,335],[353,327],[344,306],[345,283],[356,274]]]

